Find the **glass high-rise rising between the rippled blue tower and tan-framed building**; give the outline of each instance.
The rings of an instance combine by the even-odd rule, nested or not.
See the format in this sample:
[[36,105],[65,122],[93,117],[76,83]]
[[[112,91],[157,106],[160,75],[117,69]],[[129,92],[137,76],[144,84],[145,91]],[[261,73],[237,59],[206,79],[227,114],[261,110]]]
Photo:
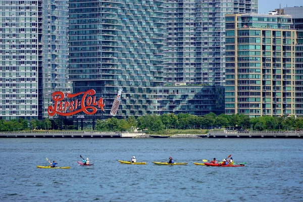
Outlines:
[[171,84],[225,84],[225,14],[257,13],[258,0],[166,1],[166,77]]

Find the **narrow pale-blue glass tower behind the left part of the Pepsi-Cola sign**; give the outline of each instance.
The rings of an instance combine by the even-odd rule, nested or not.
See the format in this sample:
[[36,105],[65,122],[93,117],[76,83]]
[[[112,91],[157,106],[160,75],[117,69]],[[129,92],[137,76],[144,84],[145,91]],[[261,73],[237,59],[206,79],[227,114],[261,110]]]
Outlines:
[[43,117],[48,117],[47,107],[54,103],[54,91],[71,92],[68,82],[67,2],[43,1]]

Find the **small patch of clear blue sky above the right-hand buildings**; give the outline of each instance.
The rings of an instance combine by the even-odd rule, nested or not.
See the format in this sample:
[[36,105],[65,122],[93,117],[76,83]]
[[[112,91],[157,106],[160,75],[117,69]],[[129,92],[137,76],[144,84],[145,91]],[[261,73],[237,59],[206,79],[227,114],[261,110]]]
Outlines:
[[268,14],[269,11],[274,11],[275,9],[284,7],[295,7],[295,6],[303,6],[302,0],[259,0],[259,10],[258,13],[260,14]]

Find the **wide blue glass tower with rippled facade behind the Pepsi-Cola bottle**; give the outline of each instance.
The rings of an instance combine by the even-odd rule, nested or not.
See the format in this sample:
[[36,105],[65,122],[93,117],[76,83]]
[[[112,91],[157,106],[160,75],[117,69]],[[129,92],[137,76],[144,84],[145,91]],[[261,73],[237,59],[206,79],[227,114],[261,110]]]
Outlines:
[[117,116],[158,114],[164,83],[163,0],[69,1],[69,72],[74,92],[95,89]]

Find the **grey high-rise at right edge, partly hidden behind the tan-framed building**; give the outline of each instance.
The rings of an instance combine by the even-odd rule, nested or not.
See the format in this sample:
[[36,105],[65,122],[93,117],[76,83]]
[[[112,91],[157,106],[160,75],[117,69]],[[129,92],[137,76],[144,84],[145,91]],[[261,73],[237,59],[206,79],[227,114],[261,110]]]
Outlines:
[[295,45],[295,115],[303,115],[303,6],[283,9],[285,15],[291,15],[296,30]]

